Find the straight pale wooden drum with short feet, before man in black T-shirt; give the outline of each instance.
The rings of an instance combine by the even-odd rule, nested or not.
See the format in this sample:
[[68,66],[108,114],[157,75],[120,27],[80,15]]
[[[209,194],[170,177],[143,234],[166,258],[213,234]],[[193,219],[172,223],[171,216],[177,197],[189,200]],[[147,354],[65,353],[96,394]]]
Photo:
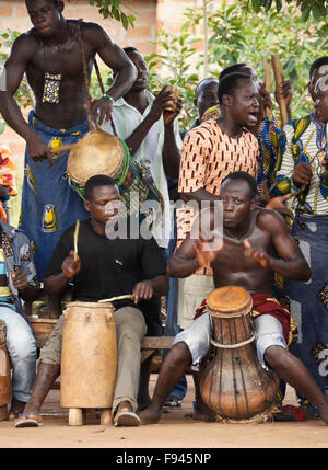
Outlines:
[[98,408],[102,424],[110,422],[117,370],[112,303],[71,302],[65,311],[61,348],[61,406],[69,425],[82,424],[82,409]]

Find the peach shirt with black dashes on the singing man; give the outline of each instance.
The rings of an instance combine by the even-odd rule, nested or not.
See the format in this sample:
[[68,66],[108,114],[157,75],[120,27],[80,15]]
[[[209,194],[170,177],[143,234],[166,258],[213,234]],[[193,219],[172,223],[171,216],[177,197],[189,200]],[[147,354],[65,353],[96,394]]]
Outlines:
[[[229,173],[245,171],[257,177],[257,138],[244,129],[234,139],[225,134],[215,119],[209,119],[190,130],[181,149],[179,193],[206,190],[219,195],[221,182]],[[192,208],[177,209],[177,248],[190,232],[197,213]],[[198,270],[196,274],[211,274],[211,270]]]

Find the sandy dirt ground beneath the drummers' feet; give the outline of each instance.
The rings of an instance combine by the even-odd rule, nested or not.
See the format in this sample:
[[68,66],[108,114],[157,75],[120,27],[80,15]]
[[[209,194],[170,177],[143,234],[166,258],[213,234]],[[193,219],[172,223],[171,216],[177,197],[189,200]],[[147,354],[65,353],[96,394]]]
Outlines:
[[[156,377],[156,374],[151,376],[151,392]],[[321,420],[304,423],[260,424],[196,422],[184,417],[192,410],[192,379],[191,376],[188,376],[188,393],[181,409],[164,413],[156,425],[137,428],[104,426],[99,424],[95,413],[89,412],[86,425],[68,426],[68,411],[60,408],[60,391],[51,390],[42,411],[43,426],[16,429],[11,422],[0,422],[0,447],[7,449],[328,449],[328,426]],[[296,404],[295,394],[291,388],[288,388],[286,391],[284,404],[286,403]]]

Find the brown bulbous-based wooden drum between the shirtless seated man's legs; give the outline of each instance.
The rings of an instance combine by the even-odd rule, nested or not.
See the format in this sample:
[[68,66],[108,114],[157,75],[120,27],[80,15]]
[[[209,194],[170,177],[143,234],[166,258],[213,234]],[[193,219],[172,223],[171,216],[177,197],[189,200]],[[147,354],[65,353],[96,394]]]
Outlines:
[[251,306],[250,295],[236,286],[215,289],[207,298],[214,358],[202,374],[200,390],[218,421],[266,421],[274,405],[279,381],[258,360]]

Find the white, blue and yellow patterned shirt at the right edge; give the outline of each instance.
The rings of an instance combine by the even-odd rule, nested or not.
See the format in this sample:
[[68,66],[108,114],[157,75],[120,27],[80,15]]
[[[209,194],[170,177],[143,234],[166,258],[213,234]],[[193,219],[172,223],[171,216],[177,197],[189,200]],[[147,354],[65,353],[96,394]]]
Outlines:
[[290,205],[298,211],[319,215],[328,214],[328,174],[320,160],[328,151],[325,124],[315,119],[314,113],[288,123],[279,141],[277,161],[277,194],[298,191],[292,176],[298,162],[311,163],[313,175],[309,184],[290,199]]

